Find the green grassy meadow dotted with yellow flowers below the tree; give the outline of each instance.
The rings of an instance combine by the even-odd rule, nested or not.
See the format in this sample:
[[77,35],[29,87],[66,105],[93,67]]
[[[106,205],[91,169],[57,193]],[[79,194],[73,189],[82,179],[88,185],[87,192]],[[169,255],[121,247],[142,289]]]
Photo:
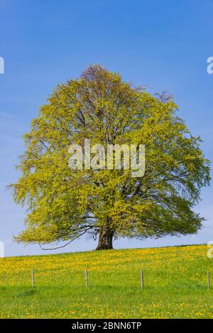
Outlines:
[[0,318],[213,318],[212,265],[207,245],[4,258]]

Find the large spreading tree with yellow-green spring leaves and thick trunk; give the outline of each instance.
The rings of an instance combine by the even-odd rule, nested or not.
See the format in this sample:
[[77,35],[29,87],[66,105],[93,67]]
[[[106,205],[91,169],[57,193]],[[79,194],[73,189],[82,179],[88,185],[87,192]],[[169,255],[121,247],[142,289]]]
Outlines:
[[[25,229],[18,242],[72,242],[89,233],[97,249],[112,249],[116,237],[186,235],[202,227],[194,213],[200,189],[209,183],[209,162],[200,138],[177,116],[165,94],[151,96],[119,74],[93,65],[80,79],[55,88],[40,108],[11,184],[16,203],[26,205]],[[146,145],[146,172],[70,170],[68,148]]]

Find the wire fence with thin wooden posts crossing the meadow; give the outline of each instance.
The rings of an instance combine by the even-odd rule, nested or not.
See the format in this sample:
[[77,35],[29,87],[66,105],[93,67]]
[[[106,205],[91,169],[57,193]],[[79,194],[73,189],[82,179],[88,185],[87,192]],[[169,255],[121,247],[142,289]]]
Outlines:
[[95,271],[84,269],[31,269],[0,273],[0,288],[4,287],[39,288],[47,286],[69,286],[69,288],[95,288],[108,286],[111,288],[160,288],[160,287],[203,287],[211,288],[210,271]]

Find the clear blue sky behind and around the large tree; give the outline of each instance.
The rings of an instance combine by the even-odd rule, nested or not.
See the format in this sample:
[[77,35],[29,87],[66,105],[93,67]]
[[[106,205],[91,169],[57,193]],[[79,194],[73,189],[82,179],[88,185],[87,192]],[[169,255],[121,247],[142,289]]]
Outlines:
[[[17,207],[6,184],[23,152],[38,107],[56,84],[78,77],[85,67],[101,63],[148,91],[167,90],[193,135],[201,135],[212,160],[213,56],[212,0],[0,0],[0,240],[6,256],[43,253],[37,245],[11,241],[23,228],[24,209]],[[146,242],[121,239],[114,247],[158,247],[213,240],[212,188],[204,188],[196,207],[207,221],[198,235]],[[93,249],[81,239],[62,251]],[[46,253],[46,252],[45,252]]]

